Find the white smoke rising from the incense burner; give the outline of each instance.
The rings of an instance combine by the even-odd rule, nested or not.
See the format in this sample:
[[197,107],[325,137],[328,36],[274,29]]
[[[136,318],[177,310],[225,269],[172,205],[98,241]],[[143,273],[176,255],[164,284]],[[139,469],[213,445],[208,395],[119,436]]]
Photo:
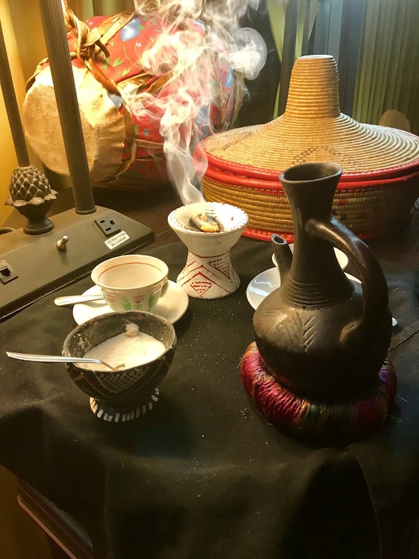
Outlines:
[[245,94],[244,78],[253,80],[265,64],[263,38],[254,29],[240,27],[247,10],[256,10],[258,2],[134,1],[138,16],[163,22],[163,33],[147,45],[140,65],[168,76],[169,87],[163,96],[125,90],[124,103],[138,117],[160,119],[168,175],[184,204],[203,200],[200,178],[207,163],[193,159],[194,148],[204,136],[233,124]]

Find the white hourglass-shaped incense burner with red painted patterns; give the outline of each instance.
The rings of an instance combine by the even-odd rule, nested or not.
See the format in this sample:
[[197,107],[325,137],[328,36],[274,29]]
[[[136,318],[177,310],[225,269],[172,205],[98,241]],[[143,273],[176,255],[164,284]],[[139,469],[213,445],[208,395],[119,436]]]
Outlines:
[[[189,220],[201,212],[214,215],[224,231],[203,233],[193,229]],[[194,203],[170,213],[170,227],[188,248],[186,264],[177,276],[177,284],[189,296],[216,299],[237,291],[240,278],[231,263],[230,249],[239,240],[247,222],[246,212],[222,203]]]

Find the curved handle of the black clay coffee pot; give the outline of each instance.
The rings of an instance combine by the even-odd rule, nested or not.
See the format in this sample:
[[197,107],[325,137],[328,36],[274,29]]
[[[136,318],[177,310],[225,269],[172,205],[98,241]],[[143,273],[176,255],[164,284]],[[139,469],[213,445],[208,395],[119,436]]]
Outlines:
[[355,267],[356,275],[362,284],[362,317],[344,328],[341,340],[355,334],[355,331],[359,331],[360,334],[368,331],[377,324],[377,320],[388,320],[391,328],[387,283],[381,266],[365,242],[334,216],[324,221],[316,218],[309,219],[306,231],[309,235],[327,240],[341,249]]

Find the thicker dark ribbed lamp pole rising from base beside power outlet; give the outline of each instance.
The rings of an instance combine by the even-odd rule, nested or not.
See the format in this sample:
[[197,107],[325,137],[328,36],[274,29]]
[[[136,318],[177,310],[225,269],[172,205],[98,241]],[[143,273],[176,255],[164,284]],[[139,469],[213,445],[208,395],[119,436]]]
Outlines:
[[90,184],[89,165],[62,5],[60,0],[41,0],[40,6],[45,44],[73,187],[75,212],[90,214],[96,211],[96,207]]

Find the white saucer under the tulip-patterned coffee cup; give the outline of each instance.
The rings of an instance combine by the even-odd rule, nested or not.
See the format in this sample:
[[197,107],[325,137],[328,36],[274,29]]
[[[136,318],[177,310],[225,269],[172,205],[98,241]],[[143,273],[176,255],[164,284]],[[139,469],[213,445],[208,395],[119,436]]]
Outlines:
[[[84,291],[83,295],[100,295],[101,288],[94,285]],[[182,289],[176,282],[168,280],[168,289],[161,296],[152,310],[154,314],[168,319],[174,324],[186,312],[189,305],[189,297],[186,291]],[[82,324],[89,319],[99,317],[101,314],[112,312],[112,309],[105,303],[105,300],[89,301],[89,303],[78,303],[73,306],[73,318],[77,324]]]

